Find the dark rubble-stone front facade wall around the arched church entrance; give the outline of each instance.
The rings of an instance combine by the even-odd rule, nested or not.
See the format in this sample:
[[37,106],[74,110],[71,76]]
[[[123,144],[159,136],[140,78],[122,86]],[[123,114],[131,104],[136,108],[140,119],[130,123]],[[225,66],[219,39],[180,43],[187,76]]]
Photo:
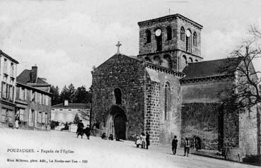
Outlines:
[[[93,109],[91,124],[106,131],[106,120],[112,106],[120,107],[127,116],[128,139],[144,131],[144,64],[138,59],[116,54],[98,66],[93,74]],[[116,104],[114,90],[120,88],[122,104]]]

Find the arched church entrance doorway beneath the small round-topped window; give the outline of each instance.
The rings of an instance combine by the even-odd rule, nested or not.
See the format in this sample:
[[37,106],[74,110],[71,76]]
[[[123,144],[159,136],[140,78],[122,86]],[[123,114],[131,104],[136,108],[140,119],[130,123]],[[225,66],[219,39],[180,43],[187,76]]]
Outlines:
[[124,110],[118,106],[112,106],[107,121],[108,136],[112,134],[116,139],[125,140],[127,117]]

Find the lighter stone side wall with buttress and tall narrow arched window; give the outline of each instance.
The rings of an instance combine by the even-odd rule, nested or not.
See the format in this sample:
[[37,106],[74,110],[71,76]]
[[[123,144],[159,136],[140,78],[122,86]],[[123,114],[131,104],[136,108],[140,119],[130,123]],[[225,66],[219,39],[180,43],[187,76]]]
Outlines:
[[[150,131],[151,143],[170,145],[173,136],[180,137],[179,78],[164,71],[154,71],[153,75],[157,81],[146,80],[146,131]],[[169,119],[165,119],[167,82],[170,84]]]

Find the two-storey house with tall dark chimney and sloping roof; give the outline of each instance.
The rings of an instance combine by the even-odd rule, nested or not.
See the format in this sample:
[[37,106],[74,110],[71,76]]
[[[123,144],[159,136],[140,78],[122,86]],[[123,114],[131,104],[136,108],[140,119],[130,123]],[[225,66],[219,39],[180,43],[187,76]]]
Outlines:
[[50,130],[50,84],[37,76],[37,66],[25,69],[16,82],[16,114],[22,128]]

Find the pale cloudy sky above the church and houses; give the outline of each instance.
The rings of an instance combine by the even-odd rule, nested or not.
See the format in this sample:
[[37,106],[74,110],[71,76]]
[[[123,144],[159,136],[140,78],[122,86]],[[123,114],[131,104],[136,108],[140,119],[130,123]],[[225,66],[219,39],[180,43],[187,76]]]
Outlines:
[[[18,74],[38,74],[58,85],[91,86],[93,66],[117,52],[139,52],[137,22],[180,13],[204,26],[202,57],[223,59],[261,28],[260,0],[1,0],[0,49],[13,57]],[[261,71],[261,59],[255,59]]]

